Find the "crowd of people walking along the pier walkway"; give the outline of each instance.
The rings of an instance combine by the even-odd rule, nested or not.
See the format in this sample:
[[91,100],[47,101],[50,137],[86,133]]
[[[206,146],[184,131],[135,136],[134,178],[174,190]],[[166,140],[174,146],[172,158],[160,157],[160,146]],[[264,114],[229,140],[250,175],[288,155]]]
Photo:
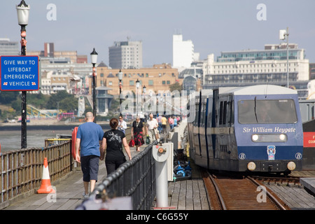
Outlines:
[[[94,123],[93,113],[85,114],[85,123],[79,125],[76,134],[76,161],[80,162],[83,172],[83,185],[85,192],[83,197],[88,197],[89,184],[91,192],[94,190],[99,172],[99,160],[105,159],[107,175],[114,172],[120,165],[126,162],[123,148],[129,160],[132,160],[130,146],[136,147],[140,151],[140,146],[159,139],[160,134],[167,133],[167,123],[172,130],[181,122],[180,116],[170,116],[168,119],[164,115],[156,118],[151,113],[148,120],[140,119],[139,116],[132,122],[131,141],[128,144],[126,139],[127,123],[123,116],[111,118],[109,125],[111,130],[103,132],[102,127]],[[105,156],[106,153],[106,156]]]

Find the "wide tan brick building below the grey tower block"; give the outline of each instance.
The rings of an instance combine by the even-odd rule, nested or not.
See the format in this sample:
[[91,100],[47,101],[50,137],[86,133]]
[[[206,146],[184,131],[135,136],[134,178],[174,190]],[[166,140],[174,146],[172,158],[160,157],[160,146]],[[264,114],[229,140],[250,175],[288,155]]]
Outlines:
[[[97,87],[105,86],[111,88],[108,94],[118,97],[119,80],[118,72],[120,69],[110,69],[104,62],[97,66]],[[147,92],[153,90],[158,93],[159,90],[169,90],[169,85],[176,82],[182,84],[183,80],[179,79],[179,72],[173,69],[169,64],[155,64],[151,68],[141,69],[121,69],[123,72],[122,90],[136,92],[136,82],[139,80],[140,88],[146,85]],[[90,80],[92,83],[92,80]],[[90,92],[92,85],[90,85]]]

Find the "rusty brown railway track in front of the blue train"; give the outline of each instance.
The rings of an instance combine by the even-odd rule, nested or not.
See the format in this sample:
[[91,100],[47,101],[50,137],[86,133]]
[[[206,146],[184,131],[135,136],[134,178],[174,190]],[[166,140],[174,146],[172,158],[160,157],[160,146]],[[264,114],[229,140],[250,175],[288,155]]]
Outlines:
[[211,210],[288,210],[262,183],[249,176],[203,174]]

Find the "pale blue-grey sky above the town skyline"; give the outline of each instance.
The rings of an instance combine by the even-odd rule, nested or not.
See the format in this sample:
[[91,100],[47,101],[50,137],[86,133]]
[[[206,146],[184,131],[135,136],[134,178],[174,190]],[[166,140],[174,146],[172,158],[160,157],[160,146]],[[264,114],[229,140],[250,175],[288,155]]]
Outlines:
[[[181,30],[192,40],[201,59],[221,51],[263,49],[266,43],[281,43],[279,29],[289,27],[289,42],[304,48],[315,62],[314,0],[25,0],[31,6],[27,26],[27,50],[77,50],[98,61],[109,62],[114,41],[143,41],[144,66],[172,64],[172,35]],[[20,41],[15,5],[20,0],[1,0],[0,38]],[[56,6],[56,20],[48,20],[49,3]],[[265,19],[258,20],[259,3],[266,6]],[[90,56],[89,62],[90,62]]]

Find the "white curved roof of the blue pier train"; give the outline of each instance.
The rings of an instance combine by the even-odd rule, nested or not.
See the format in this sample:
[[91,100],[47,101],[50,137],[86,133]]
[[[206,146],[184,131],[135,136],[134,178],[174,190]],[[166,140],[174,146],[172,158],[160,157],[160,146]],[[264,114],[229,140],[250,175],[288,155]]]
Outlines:
[[297,94],[296,90],[279,85],[251,85],[244,87],[235,87],[220,91],[221,93],[232,92],[235,95],[248,95],[248,94]]

